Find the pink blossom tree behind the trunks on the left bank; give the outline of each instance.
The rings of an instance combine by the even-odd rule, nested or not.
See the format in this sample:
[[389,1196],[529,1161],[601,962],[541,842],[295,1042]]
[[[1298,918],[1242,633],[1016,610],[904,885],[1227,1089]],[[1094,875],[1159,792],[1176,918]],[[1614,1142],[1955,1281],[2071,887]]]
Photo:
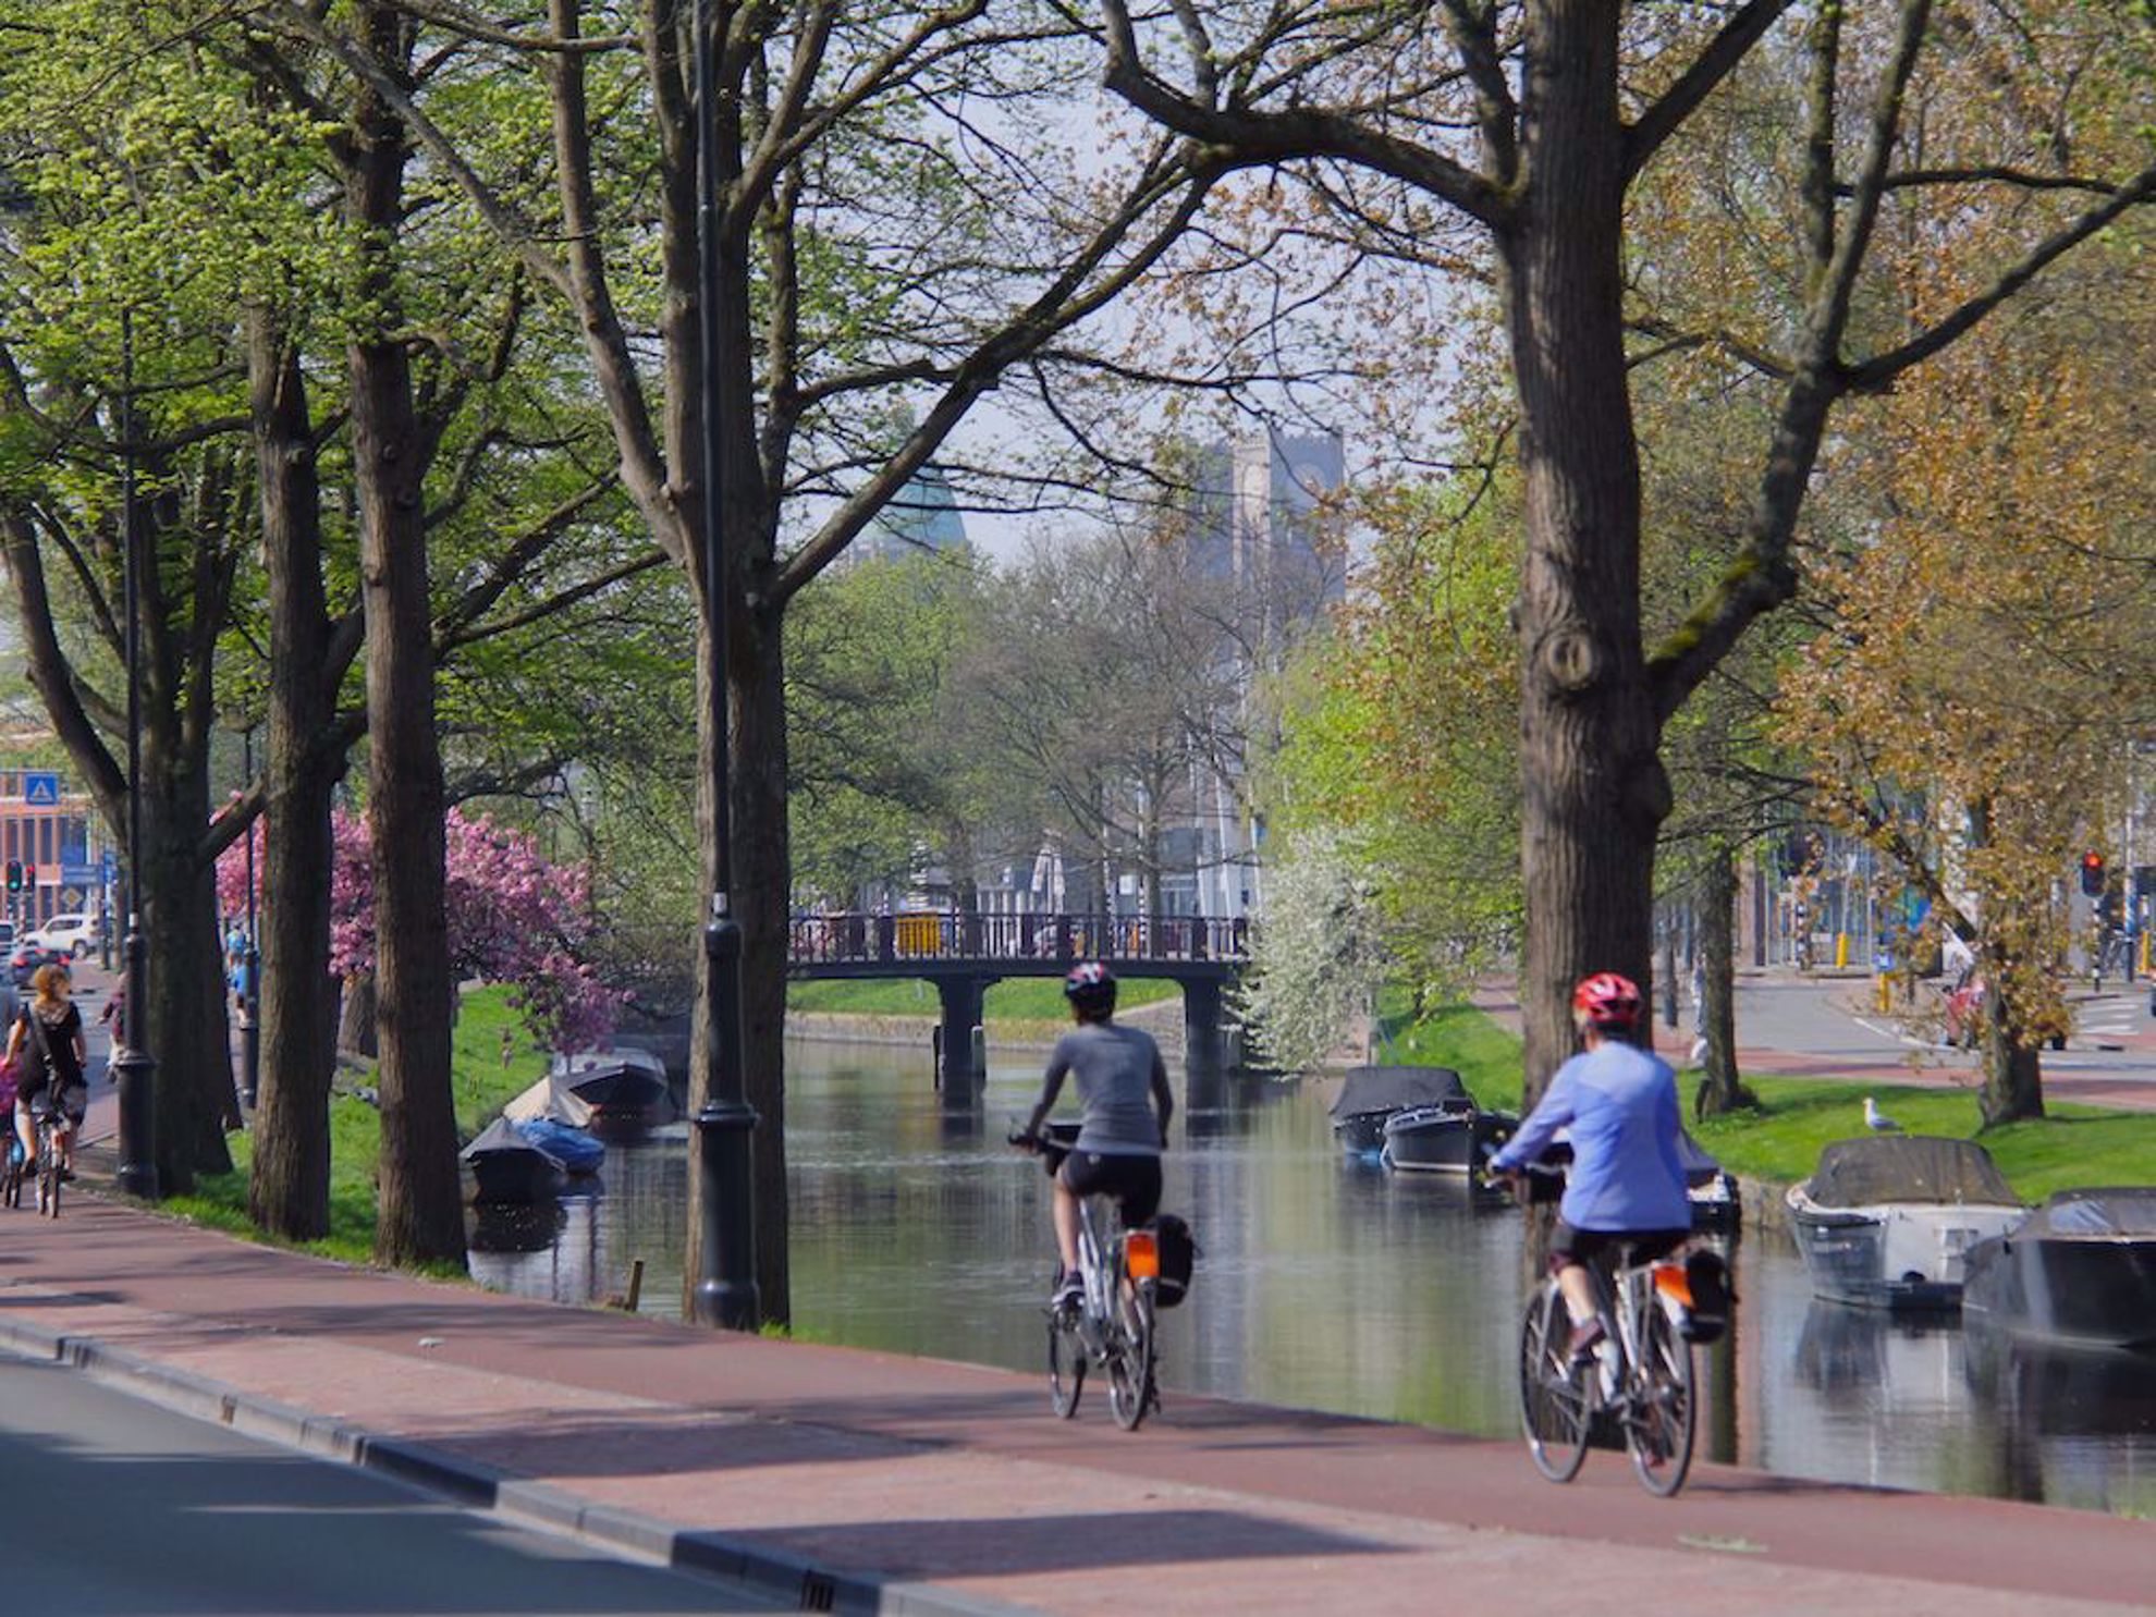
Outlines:
[[[367,819],[332,815],[330,968],[354,977],[373,968],[375,906]],[[257,871],[263,824],[254,821]],[[533,1039],[548,1050],[586,1050],[614,1026],[621,994],[606,987],[578,951],[591,936],[591,877],[582,865],[552,865],[526,832],[487,815],[448,811],[448,955],[459,979],[509,983]],[[218,860],[218,903],[237,914],[248,901],[248,843]]]

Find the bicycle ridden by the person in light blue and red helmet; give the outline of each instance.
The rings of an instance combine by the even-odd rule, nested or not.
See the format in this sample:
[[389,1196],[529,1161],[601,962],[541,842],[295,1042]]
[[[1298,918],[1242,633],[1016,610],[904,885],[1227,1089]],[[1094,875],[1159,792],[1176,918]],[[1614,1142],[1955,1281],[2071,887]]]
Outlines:
[[1623,1432],[1641,1488],[1669,1498],[1690,1475],[1699,1434],[1690,1270],[1675,1255],[1643,1255],[1630,1240],[1617,1242],[1613,1263],[1587,1270],[1604,1324],[1591,1354],[1570,1352],[1572,1313],[1554,1274],[1526,1300],[1520,1432],[1529,1460],[1550,1481],[1572,1481],[1587,1462],[1595,1416],[1608,1416]]

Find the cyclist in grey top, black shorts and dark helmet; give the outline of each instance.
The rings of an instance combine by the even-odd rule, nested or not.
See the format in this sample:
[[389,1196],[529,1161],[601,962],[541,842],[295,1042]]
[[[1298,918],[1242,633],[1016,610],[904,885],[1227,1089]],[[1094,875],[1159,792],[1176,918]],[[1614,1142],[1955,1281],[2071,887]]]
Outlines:
[[1065,1074],[1078,1080],[1078,1143],[1054,1177],[1056,1250],[1063,1259],[1056,1300],[1080,1287],[1080,1197],[1115,1197],[1125,1229],[1160,1212],[1160,1149],[1175,1112],[1169,1067],[1153,1035],[1115,1026],[1115,977],[1108,968],[1097,959],[1074,966],[1063,979],[1063,996],[1078,1026],[1056,1039],[1041,1100],[1026,1123],[1026,1134],[1039,1136]]

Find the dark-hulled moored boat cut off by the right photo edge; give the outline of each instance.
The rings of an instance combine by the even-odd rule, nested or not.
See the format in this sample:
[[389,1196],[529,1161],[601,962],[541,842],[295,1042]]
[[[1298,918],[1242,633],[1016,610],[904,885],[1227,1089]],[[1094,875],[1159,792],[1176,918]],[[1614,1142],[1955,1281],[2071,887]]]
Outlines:
[[2020,1337],[2156,1350],[2156,1186],[2053,1192],[1968,1250],[1962,1309]]

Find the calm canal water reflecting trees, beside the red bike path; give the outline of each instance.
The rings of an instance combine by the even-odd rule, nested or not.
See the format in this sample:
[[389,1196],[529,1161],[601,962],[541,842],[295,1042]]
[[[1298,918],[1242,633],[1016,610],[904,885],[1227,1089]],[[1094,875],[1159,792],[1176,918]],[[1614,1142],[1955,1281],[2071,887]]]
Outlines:
[[[787,1046],[796,1328],[819,1341],[1044,1363],[1048,1184],[1003,1136],[1037,1095],[994,1063],[951,1112],[908,1050]],[[1520,1218],[1445,1177],[1341,1158],[1315,1087],[1177,1112],[1166,1201],[1199,1246],[1162,1315],[1162,1386],[1509,1436]],[[688,1138],[610,1147],[604,1190],[474,1216],[472,1274],[563,1302],[627,1289],[679,1315]],[[2037,1354],[1955,1322],[1818,1302],[1779,1229],[1731,1250],[1738,1311],[1703,1350],[1701,1455],[1792,1477],[2156,1516],[2156,1363]],[[1046,1408],[1046,1386],[1044,1386]],[[1522,1457],[1524,1464],[1524,1457]]]

